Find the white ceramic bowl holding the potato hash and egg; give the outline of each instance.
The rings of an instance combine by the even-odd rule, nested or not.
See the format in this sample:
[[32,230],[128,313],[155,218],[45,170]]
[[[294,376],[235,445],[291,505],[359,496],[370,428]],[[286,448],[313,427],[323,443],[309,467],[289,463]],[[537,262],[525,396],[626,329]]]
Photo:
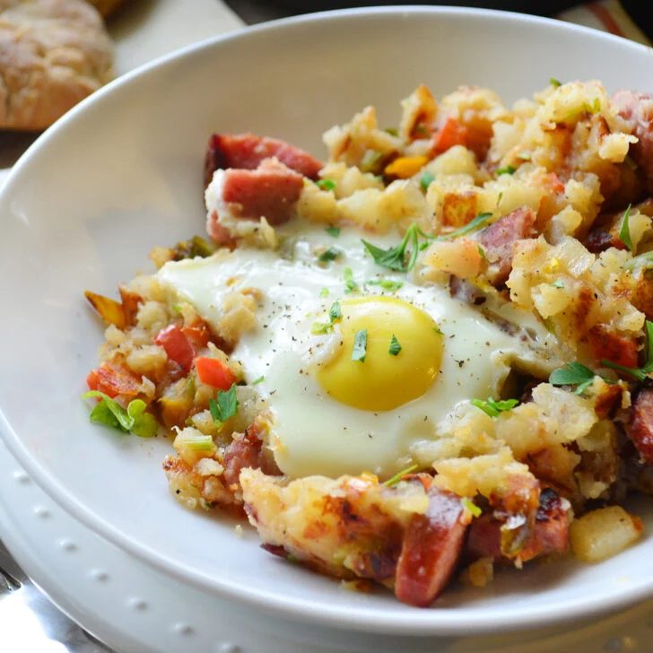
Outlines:
[[647,538],[595,567],[535,565],[484,590],[450,588],[427,610],[345,591],[263,552],[254,533],[240,539],[230,519],[180,508],[161,471],[170,444],[91,426],[79,399],[102,339],[83,290],[110,295],[150,269],[153,245],[204,231],[202,159],[213,130],[273,135],[323,156],[326,127],[367,104],[393,124],[418,83],[436,96],[461,83],[489,86],[510,102],[552,76],[650,91],[653,53],[518,14],[345,11],[186,48],[84,101],[22,157],[0,196],[0,411],[13,453],[65,509],[142,561],[298,619],[471,633],[649,595]]

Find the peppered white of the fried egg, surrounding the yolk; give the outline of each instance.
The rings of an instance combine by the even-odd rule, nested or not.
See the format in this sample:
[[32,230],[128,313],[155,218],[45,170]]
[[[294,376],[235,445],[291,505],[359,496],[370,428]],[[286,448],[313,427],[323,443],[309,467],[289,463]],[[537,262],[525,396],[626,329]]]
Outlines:
[[[447,288],[416,285],[411,276],[377,266],[361,237],[388,248],[396,245],[394,235],[371,237],[346,228],[334,238],[322,227],[299,221],[277,232],[283,240],[281,250],[238,248],[170,262],[158,278],[213,325],[222,318],[227,293],[245,288],[262,292],[258,325],[241,336],[232,356],[242,362],[248,383],[263,377],[256,387],[274,414],[270,445],[284,474],[395,474],[411,447],[435,437],[436,425],[456,405],[492,396],[507,372],[498,362],[505,361],[503,354],[519,355],[529,346],[527,338],[509,335],[451,298]],[[331,246],[342,254],[335,261],[318,263],[318,248]],[[345,267],[353,270],[359,292],[345,292]],[[404,285],[384,292],[365,284],[379,278]],[[309,372],[311,362],[328,356],[327,348],[333,346],[333,338],[311,334],[314,323],[327,319],[335,300],[374,294],[394,296],[424,310],[444,334],[441,369],[431,387],[387,412],[363,411],[335,401]]]

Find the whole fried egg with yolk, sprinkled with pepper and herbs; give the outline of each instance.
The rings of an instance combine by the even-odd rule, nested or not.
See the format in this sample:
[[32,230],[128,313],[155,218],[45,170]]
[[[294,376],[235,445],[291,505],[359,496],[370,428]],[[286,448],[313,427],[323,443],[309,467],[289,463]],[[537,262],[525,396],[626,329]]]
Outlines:
[[221,250],[158,278],[215,327],[229,293],[259,291],[257,324],[231,356],[248,383],[260,379],[284,474],[395,474],[460,402],[493,396],[505,354],[530,346],[448,288],[376,265],[361,243],[389,248],[396,236],[334,238],[299,221],[276,231],[279,250]]

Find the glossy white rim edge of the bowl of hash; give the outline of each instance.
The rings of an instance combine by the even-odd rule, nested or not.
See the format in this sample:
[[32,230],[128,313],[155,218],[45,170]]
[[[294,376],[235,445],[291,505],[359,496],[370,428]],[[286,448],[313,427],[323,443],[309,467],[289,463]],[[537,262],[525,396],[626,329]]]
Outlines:
[[[189,57],[194,53],[211,48],[221,48],[232,40],[256,39],[259,33],[268,33],[275,30],[293,29],[303,23],[314,22],[337,22],[346,21],[350,17],[359,19],[366,16],[387,15],[419,15],[420,13],[447,15],[447,16],[485,16],[488,19],[499,21],[511,21],[520,23],[534,23],[547,30],[566,32],[567,34],[586,34],[594,39],[602,39],[605,42],[619,43],[622,47],[652,50],[629,39],[615,36],[599,30],[585,27],[570,22],[563,22],[553,18],[531,15],[527,13],[508,12],[495,9],[477,9],[474,7],[458,7],[449,5],[382,5],[370,7],[355,7],[350,9],[336,9],[326,12],[306,13],[298,16],[291,16],[275,21],[263,22],[257,25],[243,27],[209,39],[203,39],[196,43],[178,48],[151,62],[141,65],[135,70],[121,75],[113,82],[95,91],[90,97],[82,100],[73,109],[70,109],[65,116],[48,127],[30,147],[22,154],[11,169],[9,175],[0,185],[0,199],[11,195],[11,189],[15,180],[20,177],[23,167],[39,156],[41,144],[64,130],[71,122],[83,113],[87,107],[104,100],[104,97],[118,88],[127,87],[132,83],[150,74],[153,70],[162,68],[176,60]],[[375,615],[373,607],[361,609],[348,608],[347,611],[340,609],[337,605],[329,605],[318,600],[295,600],[292,596],[284,596],[270,590],[252,589],[243,587],[238,582],[208,577],[200,570],[196,570],[178,560],[163,555],[152,547],[141,544],[128,533],[119,527],[112,526],[100,515],[88,508],[84,502],[77,498],[73,492],[65,487],[56,475],[49,472],[39,460],[32,456],[30,450],[23,444],[20,435],[13,430],[4,412],[0,408],[0,437],[16,457],[20,465],[27,471],[30,478],[37,483],[57,504],[65,509],[74,518],[78,519],[85,526],[90,527],[111,544],[126,553],[134,556],[135,559],[145,562],[154,570],[161,571],[167,576],[187,583],[193,587],[207,591],[218,596],[231,597],[248,605],[256,606],[269,614],[278,614],[285,618],[302,620],[308,623],[316,623],[335,627],[345,631],[376,631],[397,635],[469,635],[471,633],[516,631],[526,628],[541,627],[553,623],[569,623],[580,617],[590,614],[600,614],[614,611],[631,605],[641,599],[653,596],[653,579],[637,579],[628,588],[611,588],[601,595],[590,596],[586,601],[579,603],[578,599],[558,601],[542,612],[541,606],[525,608],[515,606],[509,613],[509,618],[497,622],[497,614],[494,611],[487,611],[485,614],[465,614],[465,610],[459,608],[437,608],[431,607],[426,610],[397,610],[395,614],[384,614],[383,622],[379,622],[379,615]],[[401,606],[402,608],[406,606]],[[457,614],[458,611],[463,614]]]

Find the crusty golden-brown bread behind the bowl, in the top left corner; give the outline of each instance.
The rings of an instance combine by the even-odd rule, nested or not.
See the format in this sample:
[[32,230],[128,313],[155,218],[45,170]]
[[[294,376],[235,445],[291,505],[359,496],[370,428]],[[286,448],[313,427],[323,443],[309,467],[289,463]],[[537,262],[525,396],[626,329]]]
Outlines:
[[113,47],[83,0],[0,0],[0,128],[40,130],[113,79]]

